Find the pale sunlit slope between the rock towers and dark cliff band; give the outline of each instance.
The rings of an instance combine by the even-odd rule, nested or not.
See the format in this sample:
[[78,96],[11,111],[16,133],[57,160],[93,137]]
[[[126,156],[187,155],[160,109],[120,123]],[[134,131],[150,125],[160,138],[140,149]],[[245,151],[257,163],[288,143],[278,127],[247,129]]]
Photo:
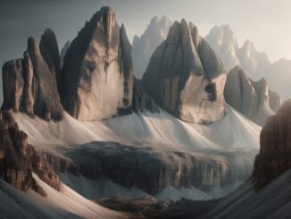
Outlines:
[[[130,145],[151,145],[175,150],[259,148],[261,127],[227,107],[228,114],[210,125],[181,122],[166,114],[129,114],[102,122],[79,122],[64,113],[61,122],[46,122],[14,114],[29,143],[38,149],[58,150],[94,140]],[[50,147],[47,147],[50,146]]]

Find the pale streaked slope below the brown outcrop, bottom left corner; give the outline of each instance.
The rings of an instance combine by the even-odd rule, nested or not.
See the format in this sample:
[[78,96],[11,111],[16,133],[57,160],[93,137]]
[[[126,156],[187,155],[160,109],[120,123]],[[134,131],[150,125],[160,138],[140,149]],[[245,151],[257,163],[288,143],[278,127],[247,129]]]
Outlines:
[[62,193],[49,187],[34,175],[46,191],[46,198],[33,190],[24,193],[0,181],[1,218],[125,218],[118,212],[80,196],[62,184]]

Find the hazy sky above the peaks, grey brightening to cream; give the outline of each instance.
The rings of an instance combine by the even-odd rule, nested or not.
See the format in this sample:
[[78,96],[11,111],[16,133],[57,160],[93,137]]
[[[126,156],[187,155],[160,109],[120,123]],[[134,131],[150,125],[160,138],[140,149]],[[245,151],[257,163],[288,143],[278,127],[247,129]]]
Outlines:
[[250,38],[271,61],[291,59],[290,0],[0,0],[0,64],[21,57],[27,38],[39,38],[46,28],[55,31],[62,47],[103,5],[112,6],[130,40],[154,15],[167,15],[193,21],[202,36],[229,23],[240,45]]

